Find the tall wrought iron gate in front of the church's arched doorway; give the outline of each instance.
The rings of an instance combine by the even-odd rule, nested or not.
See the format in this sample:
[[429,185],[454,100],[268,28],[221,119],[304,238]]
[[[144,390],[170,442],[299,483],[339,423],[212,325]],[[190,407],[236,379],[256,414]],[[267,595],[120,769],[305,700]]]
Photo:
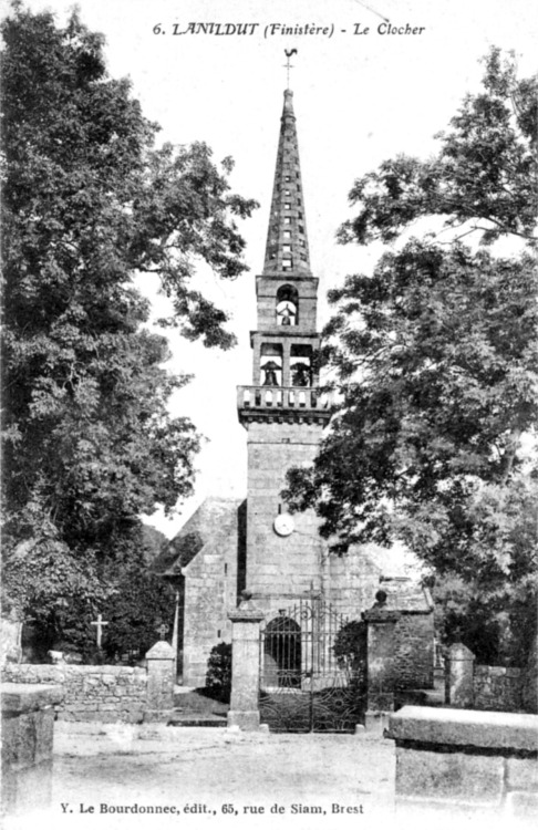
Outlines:
[[272,732],[354,732],[363,698],[352,661],[337,656],[348,620],[322,600],[281,609],[260,632],[260,716]]

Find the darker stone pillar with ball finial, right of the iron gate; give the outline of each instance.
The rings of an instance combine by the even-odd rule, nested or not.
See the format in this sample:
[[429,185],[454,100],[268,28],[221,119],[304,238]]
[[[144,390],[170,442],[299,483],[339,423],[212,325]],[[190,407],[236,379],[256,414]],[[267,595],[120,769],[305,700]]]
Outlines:
[[394,627],[400,612],[387,609],[386,593],[377,591],[373,608],[362,619],[368,626],[365,727],[382,730],[394,710]]

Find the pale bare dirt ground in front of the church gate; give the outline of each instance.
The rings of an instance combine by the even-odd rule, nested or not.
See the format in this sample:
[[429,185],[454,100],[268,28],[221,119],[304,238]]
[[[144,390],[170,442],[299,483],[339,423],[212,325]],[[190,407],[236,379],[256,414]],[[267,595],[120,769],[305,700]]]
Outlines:
[[54,744],[50,810],[10,830],[343,830],[393,816],[394,748],[382,738],[56,723]]

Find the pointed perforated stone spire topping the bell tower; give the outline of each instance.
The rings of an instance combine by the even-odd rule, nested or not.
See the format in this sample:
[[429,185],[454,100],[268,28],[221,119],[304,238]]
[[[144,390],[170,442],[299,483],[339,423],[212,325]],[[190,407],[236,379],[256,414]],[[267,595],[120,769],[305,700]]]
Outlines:
[[293,93],[284,91],[263,276],[311,277]]

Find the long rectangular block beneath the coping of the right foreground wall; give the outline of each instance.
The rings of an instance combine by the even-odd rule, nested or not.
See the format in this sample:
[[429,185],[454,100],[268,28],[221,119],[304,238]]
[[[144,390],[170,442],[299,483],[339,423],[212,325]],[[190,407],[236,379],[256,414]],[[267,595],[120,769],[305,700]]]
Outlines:
[[396,792],[432,801],[500,805],[504,758],[396,747]]

